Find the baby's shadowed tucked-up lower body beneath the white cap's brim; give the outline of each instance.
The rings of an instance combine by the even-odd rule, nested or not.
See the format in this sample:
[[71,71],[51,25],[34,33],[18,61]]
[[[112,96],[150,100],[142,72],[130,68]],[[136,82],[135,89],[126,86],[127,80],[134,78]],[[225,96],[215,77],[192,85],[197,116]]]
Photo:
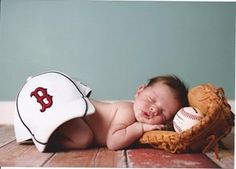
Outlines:
[[84,149],[92,144],[93,139],[87,123],[82,118],[76,118],[57,128],[50,138],[49,149]]

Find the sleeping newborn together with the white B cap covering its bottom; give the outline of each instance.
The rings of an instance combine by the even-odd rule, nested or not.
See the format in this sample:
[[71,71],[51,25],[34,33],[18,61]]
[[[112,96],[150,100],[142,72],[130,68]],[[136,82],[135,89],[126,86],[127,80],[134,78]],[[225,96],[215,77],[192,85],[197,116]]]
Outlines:
[[188,105],[187,91],[178,77],[157,76],[137,89],[133,102],[102,102],[89,99],[91,90],[84,84],[48,72],[30,79],[17,96],[16,138],[20,143],[32,139],[41,152],[90,146],[123,149],[144,132],[172,121]]

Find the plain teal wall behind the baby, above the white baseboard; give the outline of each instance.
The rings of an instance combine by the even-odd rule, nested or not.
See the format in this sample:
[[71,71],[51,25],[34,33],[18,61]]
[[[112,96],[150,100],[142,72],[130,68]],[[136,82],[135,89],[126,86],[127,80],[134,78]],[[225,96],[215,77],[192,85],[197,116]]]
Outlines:
[[233,2],[2,0],[0,100],[47,70],[78,77],[97,99],[132,99],[160,74],[234,99],[235,14]]

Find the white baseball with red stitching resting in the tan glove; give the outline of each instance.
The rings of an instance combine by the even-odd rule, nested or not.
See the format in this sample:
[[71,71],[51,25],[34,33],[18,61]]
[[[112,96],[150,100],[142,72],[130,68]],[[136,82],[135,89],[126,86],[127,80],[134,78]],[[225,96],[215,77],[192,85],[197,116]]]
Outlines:
[[183,107],[175,115],[173,125],[176,132],[183,132],[203,118],[203,114],[194,107]]

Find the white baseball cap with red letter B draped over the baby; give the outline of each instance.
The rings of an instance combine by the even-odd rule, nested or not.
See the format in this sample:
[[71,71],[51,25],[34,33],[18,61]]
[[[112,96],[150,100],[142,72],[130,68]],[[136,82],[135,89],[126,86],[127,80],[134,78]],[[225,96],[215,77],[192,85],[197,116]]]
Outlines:
[[27,79],[16,98],[14,129],[18,143],[32,139],[45,151],[51,134],[73,118],[95,112],[88,97],[91,89],[61,72]]

